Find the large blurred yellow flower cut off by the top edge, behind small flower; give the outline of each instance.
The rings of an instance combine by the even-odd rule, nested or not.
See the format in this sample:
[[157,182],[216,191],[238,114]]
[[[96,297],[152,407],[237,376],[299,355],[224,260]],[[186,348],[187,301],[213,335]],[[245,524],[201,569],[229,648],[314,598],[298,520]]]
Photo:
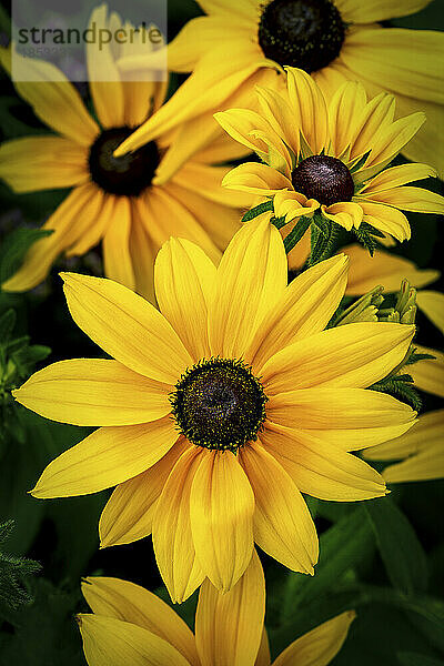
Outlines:
[[443,175],[444,36],[377,23],[428,1],[199,0],[208,16],[190,21],[169,47],[170,69],[192,75],[124,148],[151,140],[161,123],[186,121],[191,131],[203,123],[211,131],[204,113],[251,107],[244,97],[254,84],[266,79],[279,90],[282,68],[296,67],[311,73],[329,100],[344,81],[361,81],[372,97],[394,93],[401,115],[425,111],[428,122],[404,154]]

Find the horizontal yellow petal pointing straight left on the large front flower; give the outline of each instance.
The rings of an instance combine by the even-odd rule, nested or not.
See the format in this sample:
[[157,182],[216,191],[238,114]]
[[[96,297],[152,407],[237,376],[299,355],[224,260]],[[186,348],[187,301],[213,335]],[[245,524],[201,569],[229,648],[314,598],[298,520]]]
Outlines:
[[171,411],[170,387],[117,361],[73,359],[39,370],[13,391],[28,410],[73,425],[133,425]]

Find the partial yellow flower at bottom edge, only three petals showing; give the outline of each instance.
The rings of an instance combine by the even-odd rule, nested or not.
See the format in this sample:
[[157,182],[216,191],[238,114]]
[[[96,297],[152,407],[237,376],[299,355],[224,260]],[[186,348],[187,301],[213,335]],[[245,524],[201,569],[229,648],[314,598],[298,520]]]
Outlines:
[[[254,554],[241,581],[220,594],[206,581],[193,634],[154,594],[119,578],[88,577],[82,592],[92,614],[77,616],[89,666],[270,666],[265,588]],[[273,666],[326,666],[341,649],[353,610],[294,640]]]

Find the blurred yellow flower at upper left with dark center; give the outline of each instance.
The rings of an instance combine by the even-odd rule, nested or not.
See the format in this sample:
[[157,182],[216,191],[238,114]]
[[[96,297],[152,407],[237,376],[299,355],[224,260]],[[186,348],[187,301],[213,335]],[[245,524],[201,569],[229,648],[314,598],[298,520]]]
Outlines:
[[[107,18],[102,4],[91,21],[100,29],[120,19],[115,13]],[[210,165],[236,153],[226,141],[219,141],[183,164],[188,155],[182,152],[183,167],[162,186],[155,184],[155,173],[168,159],[165,151],[174,141],[171,132],[159,132],[140,151],[114,159],[114,148],[147,117],[155,117],[167,82],[141,82],[140,75],[135,81],[127,77],[124,81],[103,82],[102,71],[119,75],[110,46],[98,50],[97,44],[89,44],[87,56],[100,124],[87,111],[77,89],[61,72],[54,72],[52,64],[14,54],[22,79],[16,83],[18,92],[60,135],[3,143],[0,176],[16,192],[73,189],[43,226],[53,233],[33,244],[21,269],[2,286],[6,291],[32,289],[61,252],[80,255],[102,241],[105,275],[152,300],[154,258],[171,235],[198,243],[218,261],[239,229],[240,213],[234,206],[242,202],[220,186],[228,170]],[[0,51],[0,60],[10,70],[9,50]]]

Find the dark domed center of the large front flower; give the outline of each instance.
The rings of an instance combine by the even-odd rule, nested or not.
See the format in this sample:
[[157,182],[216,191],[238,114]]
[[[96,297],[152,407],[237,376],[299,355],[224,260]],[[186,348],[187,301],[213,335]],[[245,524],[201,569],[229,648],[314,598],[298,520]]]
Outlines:
[[235,453],[256,440],[268,397],[249,365],[214,357],[188,369],[170,400],[175,422],[190,442]]

